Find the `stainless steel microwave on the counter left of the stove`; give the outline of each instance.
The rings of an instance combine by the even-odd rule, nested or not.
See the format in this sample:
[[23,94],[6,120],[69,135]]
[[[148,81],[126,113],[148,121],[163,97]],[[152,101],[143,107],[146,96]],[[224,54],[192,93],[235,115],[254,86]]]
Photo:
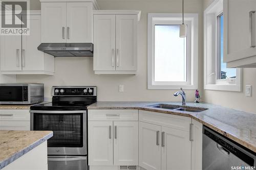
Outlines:
[[44,84],[0,84],[0,104],[29,105],[44,102]]

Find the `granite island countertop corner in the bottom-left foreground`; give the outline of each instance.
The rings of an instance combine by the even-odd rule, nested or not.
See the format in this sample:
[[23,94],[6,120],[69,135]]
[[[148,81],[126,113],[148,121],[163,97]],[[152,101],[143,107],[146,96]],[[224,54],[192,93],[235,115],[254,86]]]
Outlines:
[[0,169],[53,136],[52,131],[0,131]]

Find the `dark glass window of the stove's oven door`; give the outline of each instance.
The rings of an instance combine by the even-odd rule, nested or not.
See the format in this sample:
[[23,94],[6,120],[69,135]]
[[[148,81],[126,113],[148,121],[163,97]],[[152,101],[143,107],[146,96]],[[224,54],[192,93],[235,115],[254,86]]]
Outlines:
[[53,131],[48,147],[83,147],[83,113],[34,113],[33,130]]

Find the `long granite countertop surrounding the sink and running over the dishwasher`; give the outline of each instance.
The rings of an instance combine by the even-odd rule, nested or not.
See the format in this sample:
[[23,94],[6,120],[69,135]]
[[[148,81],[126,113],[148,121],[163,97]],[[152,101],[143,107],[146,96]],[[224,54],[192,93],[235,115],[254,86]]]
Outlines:
[[139,109],[188,116],[256,152],[256,114],[208,103],[187,103],[188,107],[208,109],[198,113],[147,106],[159,103],[181,105],[181,102],[96,102],[88,106],[88,109]]

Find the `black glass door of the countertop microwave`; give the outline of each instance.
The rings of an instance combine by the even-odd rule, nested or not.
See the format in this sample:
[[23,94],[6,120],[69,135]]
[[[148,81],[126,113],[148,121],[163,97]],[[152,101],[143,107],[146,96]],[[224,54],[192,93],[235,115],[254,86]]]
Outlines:
[[0,86],[1,102],[23,102],[23,86]]

